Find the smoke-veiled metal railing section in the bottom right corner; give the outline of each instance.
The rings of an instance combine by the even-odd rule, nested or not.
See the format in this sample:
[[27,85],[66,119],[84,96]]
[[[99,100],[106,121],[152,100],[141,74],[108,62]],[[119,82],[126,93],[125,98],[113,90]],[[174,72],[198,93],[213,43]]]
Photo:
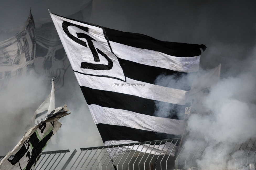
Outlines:
[[202,139],[196,139],[194,143],[195,144],[192,147],[186,147],[186,144],[183,144],[175,159],[175,169],[256,170],[256,139],[250,139],[244,143],[233,143],[230,153],[223,156],[218,165],[216,165],[216,163],[206,163],[204,156],[202,156],[207,146],[209,146],[209,143]]

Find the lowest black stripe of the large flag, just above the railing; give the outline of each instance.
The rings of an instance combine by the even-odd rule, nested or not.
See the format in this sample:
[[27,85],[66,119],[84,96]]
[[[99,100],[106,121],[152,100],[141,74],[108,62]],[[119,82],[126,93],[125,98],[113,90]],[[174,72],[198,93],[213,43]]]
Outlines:
[[[164,140],[180,138],[181,135],[146,131],[126,126],[97,124],[103,143],[108,140],[134,140],[146,142],[151,140]],[[177,143],[178,145],[178,143]]]

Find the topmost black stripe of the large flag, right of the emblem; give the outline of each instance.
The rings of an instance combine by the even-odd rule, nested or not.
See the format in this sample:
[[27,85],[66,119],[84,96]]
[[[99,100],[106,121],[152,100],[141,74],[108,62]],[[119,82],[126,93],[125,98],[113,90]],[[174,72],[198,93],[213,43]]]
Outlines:
[[[88,24],[88,23],[86,23]],[[200,48],[205,51],[206,46],[201,44],[187,44],[166,42],[155,38],[130,32],[122,32],[110,28],[103,28],[109,41],[129,45],[135,48],[159,51],[176,57],[194,57],[201,55]]]

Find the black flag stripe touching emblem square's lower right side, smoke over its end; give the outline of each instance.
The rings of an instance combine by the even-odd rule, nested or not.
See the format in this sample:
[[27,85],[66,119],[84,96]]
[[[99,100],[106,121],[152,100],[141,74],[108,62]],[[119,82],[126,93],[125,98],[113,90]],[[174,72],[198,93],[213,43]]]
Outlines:
[[[193,79],[188,78],[188,75],[196,75],[197,72],[183,73],[178,71],[169,70],[166,68],[148,66],[136,63],[129,60],[118,58],[120,66],[124,71],[124,75],[130,79],[142,81],[145,83],[154,84],[157,76],[160,74],[172,75],[173,79],[177,82],[170,84],[168,87],[180,90],[190,90]],[[179,81],[182,79],[182,81]]]

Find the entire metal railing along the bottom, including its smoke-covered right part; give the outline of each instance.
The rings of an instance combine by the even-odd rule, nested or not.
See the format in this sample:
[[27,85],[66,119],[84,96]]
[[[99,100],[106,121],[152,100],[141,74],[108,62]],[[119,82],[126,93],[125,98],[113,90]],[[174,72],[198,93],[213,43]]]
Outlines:
[[[194,145],[180,150],[180,139],[167,139],[91,148],[47,151],[36,164],[36,170],[85,169],[85,170],[256,170],[256,138],[244,143],[234,143],[230,153],[223,156],[219,165],[209,164],[204,160],[204,152],[210,145],[202,139],[194,140]],[[175,157],[173,157],[176,153]],[[13,155],[10,156],[10,158]],[[0,156],[0,161],[4,156]],[[220,166],[221,165],[221,166]]]

